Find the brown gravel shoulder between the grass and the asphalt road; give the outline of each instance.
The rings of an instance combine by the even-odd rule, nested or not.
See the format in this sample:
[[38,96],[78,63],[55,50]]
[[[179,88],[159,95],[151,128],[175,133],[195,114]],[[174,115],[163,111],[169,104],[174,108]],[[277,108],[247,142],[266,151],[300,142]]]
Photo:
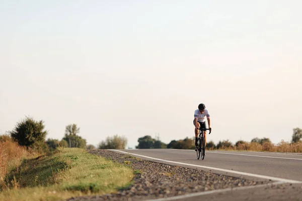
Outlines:
[[115,194],[72,197],[67,200],[146,200],[202,192],[214,189],[272,183],[226,176],[203,170],[142,160],[108,150],[91,150],[96,154],[125,164],[135,171],[132,184]]

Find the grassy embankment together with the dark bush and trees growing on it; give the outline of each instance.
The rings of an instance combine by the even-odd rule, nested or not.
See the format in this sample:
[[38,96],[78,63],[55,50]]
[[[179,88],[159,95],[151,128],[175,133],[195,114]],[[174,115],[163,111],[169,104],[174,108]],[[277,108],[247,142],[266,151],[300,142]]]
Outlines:
[[93,145],[68,125],[62,140],[45,140],[43,121],[26,118],[0,136],[0,200],[62,200],[116,192],[133,170],[90,154]]

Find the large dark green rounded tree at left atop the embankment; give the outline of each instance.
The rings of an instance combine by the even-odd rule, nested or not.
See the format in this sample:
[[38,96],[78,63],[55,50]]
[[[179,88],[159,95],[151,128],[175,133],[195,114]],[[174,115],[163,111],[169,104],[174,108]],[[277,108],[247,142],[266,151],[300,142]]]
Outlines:
[[31,117],[17,123],[11,132],[11,137],[21,146],[26,146],[35,150],[45,148],[45,138],[47,131],[44,131],[43,121],[35,121]]

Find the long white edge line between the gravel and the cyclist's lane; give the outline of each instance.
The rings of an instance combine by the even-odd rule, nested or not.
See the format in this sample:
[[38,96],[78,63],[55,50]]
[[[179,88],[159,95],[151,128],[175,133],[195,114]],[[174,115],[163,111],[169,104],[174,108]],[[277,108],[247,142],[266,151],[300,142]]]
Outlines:
[[140,157],[144,157],[144,158],[149,158],[149,159],[153,159],[153,160],[169,162],[169,163],[176,163],[176,164],[188,165],[188,166],[193,166],[193,167],[201,167],[201,168],[213,169],[213,170],[230,172],[230,173],[235,173],[235,174],[242,174],[242,175],[246,175],[246,176],[258,177],[258,178],[263,178],[263,179],[271,179],[271,180],[276,180],[276,181],[283,181],[283,182],[286,182],[286,183],[302,183],[302,181],[297,181],[297,180],[284,179],[284,178],[273,177],[273,176],[266,176],[266,175],[261,175],[261,174],[253,174],[253,173],[248,173],[248,172],[240,172],[240,171],[222,169],[222,168],[217,168],[217,167],[209,167],[209,166],[203,166],[203,165],[195,165],[195,164],[190,164],[190,163],[182,163],[182,162],[164,160],[164,159],[160,159],[160,158],[153,158],[153,157],[149,157],[149,156],[144,156],[144,155],[139,155],[139,154],[133,154],[133,153],[129,153],[129,152],[125,152],[125,151],[120,151],[120,150],[115,150],[115,149],[110,149],[110,150],[121,152],[121,153],[124,153],[124,154],[131,154],[131,155],[134,155],[134,156],[140,156]]

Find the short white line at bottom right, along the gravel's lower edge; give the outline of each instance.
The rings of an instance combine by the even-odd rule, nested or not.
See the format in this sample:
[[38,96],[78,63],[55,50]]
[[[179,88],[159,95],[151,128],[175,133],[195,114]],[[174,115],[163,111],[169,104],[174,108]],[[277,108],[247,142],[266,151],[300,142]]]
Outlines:
[[235,188],[209,190],[209,191],[195,192],[195,193],[190,193],[190,194],[185,194],[185,195],[177,195],[177,196],[173,196],[173,197],[148,199],[147,201],[168,201],[168,200],[175,200],[175,199],[185,199],[185,198],[189,198],[189,197],[195,197],[195,196],[206,195],[206,194],[213,194],[213,193],[219,193],[219,192],[228,192],[228,191],[232,191],[232,190],[245,190],[245,189],[250,189],[250,188],[266,187],[266,186],[269,186],[269,185],[278,185],[278,184],[282,184],[282,183],[285,183],[285,182],[277,181],[277,182],[274,182],[274,183],[271,183],[271,184],[261,184],[261,185],[243,186],[243,187],[235,187]]

